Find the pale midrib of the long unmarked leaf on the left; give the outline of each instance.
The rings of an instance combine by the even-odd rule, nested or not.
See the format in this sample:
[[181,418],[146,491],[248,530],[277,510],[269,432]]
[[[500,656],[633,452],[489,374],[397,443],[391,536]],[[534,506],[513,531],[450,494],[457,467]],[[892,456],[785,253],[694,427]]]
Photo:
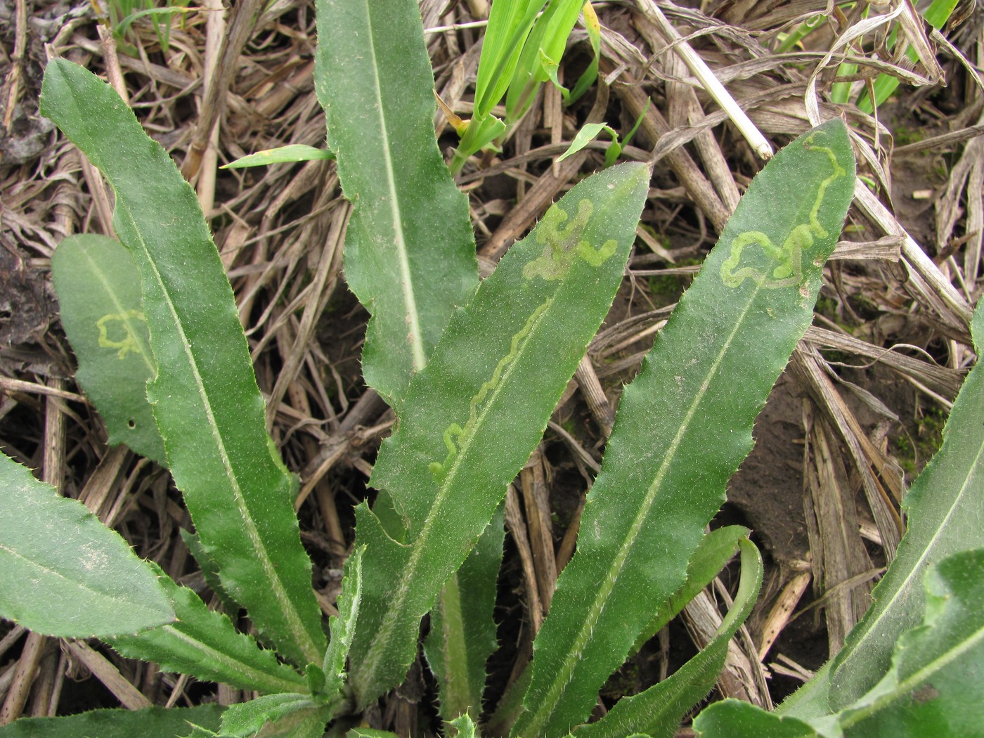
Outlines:
[[[117,200],[119,201],[119,195],[117,194]],[[121,202],[120,205],[123,205]],[[189,368],[194,377],[195,387],[198,391],[199,399],[202,401],[203,409],[205,410],[206,416],[208,418],[209,432],[215,441],[215,447],[218,450],[219,459],[222,463],[222,467],[225,471],[225,477],[229,482],[229,491],[232,492],[233,501],[236,504],[236,509],[239,511],[242,517],[244,527],[246,529],[247,537],[249,538],[252,548],[257,553],[257,557],[263,567],[264,574],[267,576],[267,580],[271,585],[274,592],[274,597],[277,602],[280,603],[281,612],[287,620],[290,626],[292,635],[294,637],[296,645],[300,648],[301,652],[304,654],[305,658],[309,661],[316,661],[318,657],[318,648],[315,646],[314,641],[311,639],[307,630],[304,628],[303,621],[300,618],[299,613],[294,605],[293,600],[288,596],[286,589],[283,586],[283,582],[280,580],[277,568],[274,566],[273,561],[270,558],[270,553],[267,550],[266,544],[263,541],[260,531],[257,528],[256,522],[253,520],[253,516],[249,511],[249,506],[246,503],[246,499],[243,496],[242,488],[239,485],[239,479],[236,476],[234,469],[232,468],[232,462],[229,459],[228,453],[225,449],[225,442],[218,430],[218,426],[215,422],[215,413],[212,409],[212,402],[209,399],[209,395],[206,392],[205,384],[202,380],[202,375],[198,369],[198,362],[195,360],[194,353],[191,348],[191,342],[188,340],[188,336],[184,331],[184,324],[181,322],[180,316],[175,309],[174,303],[171,301],[170,292],[167,289],[167,285],[161,277],[160,273],[157,271],[157,265],[154,262],[154,258],[151,254],[150,248],[147,242],[144,240],[143,234],[140,228],[136,224],[136,218],[130,213],[129,208],[125,207],[119,208],[119,211],[124,212],[131,220],[131,225],[133,227],[134,233],[140,239],[140,246],[144,250],[147,262],[154,274],[154,279],[160,288],[160,293],[164,300],[164,304],[167,307],[168,312],[171,315],[174,326],[176,327],[176,332],[178,338],[180,338],[181,346],[184,350],[185,357],[188,360]],[[158,375],[157,381],[160,378]]]

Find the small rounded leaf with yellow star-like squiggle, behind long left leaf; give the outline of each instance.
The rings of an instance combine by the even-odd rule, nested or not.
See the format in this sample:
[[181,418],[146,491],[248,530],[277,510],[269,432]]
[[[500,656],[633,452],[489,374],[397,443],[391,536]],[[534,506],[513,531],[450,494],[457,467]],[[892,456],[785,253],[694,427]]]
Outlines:
[[157,365],[129,252],[108,236],[69,236],[51,257],[51,280],[65,335],[79,358],[76,379],[105,420],[109,443],[126,444],[166,466],[147,401],[147,381]]

